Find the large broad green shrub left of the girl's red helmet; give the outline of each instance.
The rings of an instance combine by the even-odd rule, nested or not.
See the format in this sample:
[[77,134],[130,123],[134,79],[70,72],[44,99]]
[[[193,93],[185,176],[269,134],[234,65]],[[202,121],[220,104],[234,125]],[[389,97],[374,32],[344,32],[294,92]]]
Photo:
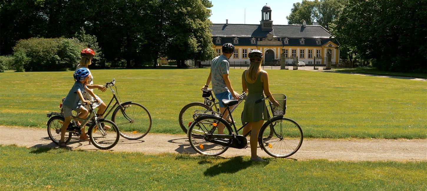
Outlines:
[[13,48],[15,69],[25,71],[58,71],[74,68],[85,48],[76,39],[29,38]]

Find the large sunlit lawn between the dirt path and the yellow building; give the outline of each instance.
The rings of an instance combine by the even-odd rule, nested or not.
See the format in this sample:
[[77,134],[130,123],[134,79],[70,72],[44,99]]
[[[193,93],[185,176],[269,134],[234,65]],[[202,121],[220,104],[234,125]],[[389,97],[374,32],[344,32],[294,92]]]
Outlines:
[[[330,72],[267,70],[272,93],[287,95],[285,117],[301,125],[304,137],[427,138],[427,82]],[[209,69],[91,70],[96,84],[115,78],[123,101],[144,105],[152,133],[182,133],[181,108],[202,101],[200,88]],[[243,69],[230,69],[241,92]],[[45,128],[45,113],[73,85],[73,72],[0,73],[0,124]],[[95,90],[105,102],[112,94]],[[241,105],[235,114],[240,124]]]

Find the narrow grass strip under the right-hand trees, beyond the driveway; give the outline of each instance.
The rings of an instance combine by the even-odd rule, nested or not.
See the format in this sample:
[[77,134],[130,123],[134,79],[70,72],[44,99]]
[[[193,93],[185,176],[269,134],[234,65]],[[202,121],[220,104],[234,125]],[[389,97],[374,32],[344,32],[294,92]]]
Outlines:
[[407,73],[407,72],[387,72],[376,69],[374,67],[357,67],[357,68],[345,68],[345,69],[332,69],[337,72],[348,72],[348,73],[360,73],[360,74],[377,74],[377,75],[395,75],[405,76],[413,78],[427,78],[427,73]]

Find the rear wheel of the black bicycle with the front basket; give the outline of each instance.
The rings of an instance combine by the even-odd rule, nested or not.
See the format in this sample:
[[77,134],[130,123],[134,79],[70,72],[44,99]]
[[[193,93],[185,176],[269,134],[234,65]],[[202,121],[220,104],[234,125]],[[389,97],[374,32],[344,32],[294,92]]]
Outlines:
[[[218,128],[224,126],[223,133],[218,133]],[[224,142],[225,144],[231,143],[231,139],[227,138],[211,138],[212,134],[225,134],[231,135],[231,127],[225,122],[224,119],[215,116],[202,116],[197,118],[188,129],[188,140],[191,147],[202,155],[217,156],[225,152],[228,147],[219,145],[217,143],[208,142],[207,140],[214,140]]]

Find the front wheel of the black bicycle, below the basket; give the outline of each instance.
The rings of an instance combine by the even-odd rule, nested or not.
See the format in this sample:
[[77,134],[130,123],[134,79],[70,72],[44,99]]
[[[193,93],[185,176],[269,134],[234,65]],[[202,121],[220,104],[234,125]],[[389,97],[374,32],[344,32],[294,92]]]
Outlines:
[[[271,133],[273,132],[273,133]],[[301,127],[283,116],[267,121],[258,134],[260,148],[270,156],[285,158],[296,153],[302,144]]]

